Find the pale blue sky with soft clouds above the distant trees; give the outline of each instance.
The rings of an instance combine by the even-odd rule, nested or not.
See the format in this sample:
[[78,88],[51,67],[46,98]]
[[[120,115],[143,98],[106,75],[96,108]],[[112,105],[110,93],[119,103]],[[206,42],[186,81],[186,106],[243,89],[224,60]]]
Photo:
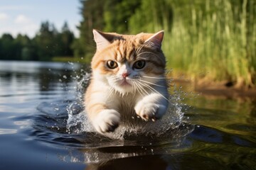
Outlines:
[[33,38],[44,21],[53,23],[57,30],[67,21],[78,37],[80,7],[79,0],[0,0],[0,37],[3,33],[14,37],[21,33]]

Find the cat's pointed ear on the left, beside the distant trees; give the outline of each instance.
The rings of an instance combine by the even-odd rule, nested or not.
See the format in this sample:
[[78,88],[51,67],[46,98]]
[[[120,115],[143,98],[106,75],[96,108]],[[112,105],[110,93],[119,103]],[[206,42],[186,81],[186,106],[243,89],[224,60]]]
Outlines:
[[103,48],[110,45],[112,40],[114,39],[114,35],[108,33],[102,33],[99,30],[92,30],[94,40],[97,45],[97,50],[102,50]]

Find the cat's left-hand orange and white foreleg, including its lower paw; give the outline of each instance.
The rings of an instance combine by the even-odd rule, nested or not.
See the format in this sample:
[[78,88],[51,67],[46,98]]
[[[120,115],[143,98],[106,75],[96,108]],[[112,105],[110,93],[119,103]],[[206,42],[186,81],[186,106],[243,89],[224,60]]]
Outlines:
[[116,102],[110,101],[109,90],[88,89],[85,95],[85,111],[95,130],[100,133],[114,131],[120,122],[120,113],[115,109]]

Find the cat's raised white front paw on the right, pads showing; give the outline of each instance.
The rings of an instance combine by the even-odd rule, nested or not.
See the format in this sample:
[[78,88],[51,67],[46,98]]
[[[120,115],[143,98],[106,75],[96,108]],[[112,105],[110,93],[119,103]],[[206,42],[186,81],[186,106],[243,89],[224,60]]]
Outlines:
[[169,101],[167,95],[153,93],[141,98],[134,107],[137,115],[143,120],[160,119],[167,111]]

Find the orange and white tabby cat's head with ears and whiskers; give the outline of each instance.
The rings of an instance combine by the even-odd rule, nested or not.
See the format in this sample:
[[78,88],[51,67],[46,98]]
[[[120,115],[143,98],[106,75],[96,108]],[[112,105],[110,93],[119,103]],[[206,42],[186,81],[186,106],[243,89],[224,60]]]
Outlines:
[[164,79],[164,31],[119,35],[93,30],[93,34],[97,44],[91,63],[93,79],[104,81],[121,94],[142,92]]

